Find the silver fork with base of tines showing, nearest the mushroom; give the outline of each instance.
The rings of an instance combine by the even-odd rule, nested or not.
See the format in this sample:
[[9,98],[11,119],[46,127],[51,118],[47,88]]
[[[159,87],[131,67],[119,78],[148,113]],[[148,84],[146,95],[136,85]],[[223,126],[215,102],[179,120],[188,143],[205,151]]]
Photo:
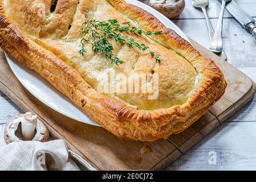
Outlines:
[[[202,10],[202,12],[204,13],[206,24],[208,27],[208,32],[209,32],[210,43],[212,43],[213,36],[214,36],[214,30],[213,30],[212,24],[210,23],[210,19],[208,17],[207,11],[206,11],[206,7],[209,6],[209,1],[208,0],[191,0],[191,3],[192,3],[192,6],[194,6],[196,8],[200,8]],[[222,59],[224,59],[224,60],[227,59],[226,53],[223,50],[221,53],[216,53],[216,54],[218,56],[222,57]]]

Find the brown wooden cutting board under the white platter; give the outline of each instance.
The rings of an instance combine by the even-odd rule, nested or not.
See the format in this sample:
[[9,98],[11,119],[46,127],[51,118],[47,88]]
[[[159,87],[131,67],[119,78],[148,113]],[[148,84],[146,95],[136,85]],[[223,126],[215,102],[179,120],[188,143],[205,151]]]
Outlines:
[[[192,126],[168,140],[121,140],[101,127],[74,121],[50,109],[32,96],[11,71],[0,50],[0,90],[24,111],[37,114],[55,139],[64,139],[70,150],[100,170],[162,169],[184,154],[210,131],[253,98],[255,83],[245,74],[191,40],[202,55],[213,59],[228,82],[224,96]],[[234,141],[235,142],[235,141]],[[151,151],[141,153],[148,146]]]

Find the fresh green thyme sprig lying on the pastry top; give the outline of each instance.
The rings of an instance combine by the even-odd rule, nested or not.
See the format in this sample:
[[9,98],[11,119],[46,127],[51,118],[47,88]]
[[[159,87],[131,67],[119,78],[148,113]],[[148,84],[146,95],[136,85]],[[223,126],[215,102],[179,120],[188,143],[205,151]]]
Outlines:
[[[86,52],[85,44],[90,42],[94,52],[103,53],[104,57],[111,60],[112,64],[123,64],[124,62],[118,57],[113,55],[113,46],[109,43],[108,39],[113,39],[115,42],[126,44],[129,47],[135,46],[141,51],[146,51],[149,47],[145,44],[137,43],[134,39],[125,38],[120,33],[127,32],[135,35],[160,35],[162,31],[144,32],[140,28],[132,26],[131,22],[119,23],[116,19],[109,19],[107,21],[91,20],[89,16],[85,15],[86,20],[82,24],[82,39],[80,41],[81,48],[80,55]],[[160,55],[155,55],[153,51],[149,51],[152,56],[155,56],[157,63],[160,63]]]

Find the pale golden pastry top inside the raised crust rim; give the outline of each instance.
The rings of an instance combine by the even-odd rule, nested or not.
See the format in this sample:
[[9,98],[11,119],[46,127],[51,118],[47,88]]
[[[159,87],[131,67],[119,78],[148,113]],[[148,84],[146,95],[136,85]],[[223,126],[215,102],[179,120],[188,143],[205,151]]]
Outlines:
[[[90,14],[96,20],[117,19],[120,23],[129,21],[137,26],[136,22],[121,14],[108,1],[26,0],[24,3],[23,0],[5,0],[3,3],[7,16],[23,34],[76,69],[98,92],[137,109],[155,110],[182,105],[200,79],[188,60],[145,35],[122,33],[127,38],[144,43],[156,55],[161,55],[160,64],[156,63],[155,57],[148,51],[143,52],[112,40],[113,54],[123,60],[124,64],[111,64],[103,55],[93,52],[90,43],[85,45],[87,51],[84,56],[79,55],[84,14]],[[113,75],[115,78],[111,79]],[[147,80],[139,78],[139,81],[131,84],[131,75],[144,75]],[[108,92],[102,89],[106,79]],[[135,92],[135,87],[139,88],[139,93]],[[157,97],[154,98],[155,94]]]

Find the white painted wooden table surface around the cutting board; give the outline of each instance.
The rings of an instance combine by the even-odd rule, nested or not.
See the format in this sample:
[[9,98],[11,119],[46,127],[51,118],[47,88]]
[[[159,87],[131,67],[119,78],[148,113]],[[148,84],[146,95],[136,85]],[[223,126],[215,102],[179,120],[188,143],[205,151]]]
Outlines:
[[[208,48],[209,38],[204,15],[192,7],[190,0],[185,1],[185,10],[179,17],[174,18],[173,22],[187,36]],[[217,0],[209,1],[208,13],[215,27],[220,13],[220,3]],[[247,13],[256,17],[256,0],[235,1]],[[224,19],[224,49],[227,61],[256,82],[256,40],[227,12]],[[5,123],[18,113],[22,113],[22,110],[0,93],[0,147],[5,145]],[[209,164],[209,152],[216,152],[216,164]],[[166,169],[256,170],[256,97]]]

